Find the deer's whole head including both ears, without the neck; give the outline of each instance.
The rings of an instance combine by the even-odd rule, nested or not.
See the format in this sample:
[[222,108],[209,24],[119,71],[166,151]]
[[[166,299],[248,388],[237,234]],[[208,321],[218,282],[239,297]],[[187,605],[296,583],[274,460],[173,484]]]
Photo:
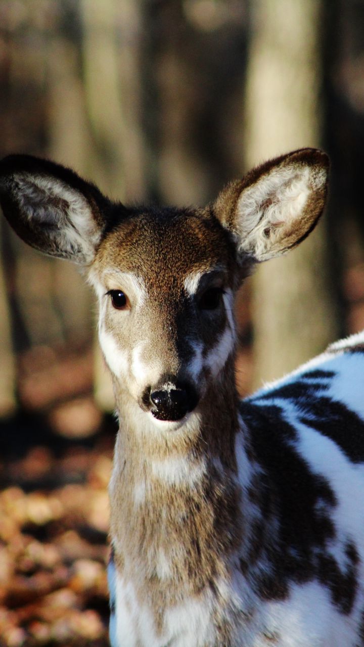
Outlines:
[[327,171],[324,153],[302,149],[232,182],[205,210],[157,211],[113,204],[69,169],[14,155],[0,163],[0,202],[32,247],[85,267],[117,394],[155,424],[180,424],[233,355],[238,280],[308,235]]

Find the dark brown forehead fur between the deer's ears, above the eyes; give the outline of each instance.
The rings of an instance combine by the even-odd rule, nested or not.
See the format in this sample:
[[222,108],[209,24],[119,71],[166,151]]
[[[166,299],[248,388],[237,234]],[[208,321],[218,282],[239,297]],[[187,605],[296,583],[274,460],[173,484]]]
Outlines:
[[183,282],[188,272],[232,269],[234,246],[208,209],[132,210],[113,227],[95,266],[140,274],[148,283]]

